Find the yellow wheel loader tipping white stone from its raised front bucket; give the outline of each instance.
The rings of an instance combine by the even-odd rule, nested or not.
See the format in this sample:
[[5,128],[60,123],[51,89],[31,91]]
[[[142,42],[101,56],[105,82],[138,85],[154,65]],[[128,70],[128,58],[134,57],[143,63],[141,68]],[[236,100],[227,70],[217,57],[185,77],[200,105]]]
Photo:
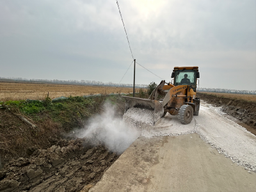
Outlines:
[[199,113],[200,99],[196,97],[199,77],[198,67],[174,67],[173,83],[161,81],[148,99],[122,96],[125,99],[125,112],[130,108],[152,110],[154,123],[168,112],[178,115],[182,124],[189,124],[193,115]]

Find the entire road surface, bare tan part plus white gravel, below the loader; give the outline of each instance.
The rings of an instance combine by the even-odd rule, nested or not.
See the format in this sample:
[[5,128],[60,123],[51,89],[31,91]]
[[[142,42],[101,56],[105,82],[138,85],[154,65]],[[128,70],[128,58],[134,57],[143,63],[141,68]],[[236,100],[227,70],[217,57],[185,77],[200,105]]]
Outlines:
[[94,191],[255,191],[256,136],[202,102],[189,125],[166,116],[145,129]]

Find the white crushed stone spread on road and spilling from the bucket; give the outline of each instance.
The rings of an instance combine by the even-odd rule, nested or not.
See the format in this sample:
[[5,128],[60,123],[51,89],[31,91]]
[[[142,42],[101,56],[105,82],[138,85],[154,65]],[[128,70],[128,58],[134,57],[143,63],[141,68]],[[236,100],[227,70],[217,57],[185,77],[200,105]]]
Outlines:
[[[215,108],[202,101],[199,116],[194,116],[193,121],[188,125],[180,124],[177,116],[172,115],[161,118],[155,126],[152,126],[150,122],[145,124],[149,116],[148,112],[147,118],[142,118],[140,122],[140,117],[145,111],[141,109],[129,111],[132,118],[134,117],[132,125],[140,125],[141,136],[150,138],[197,133],[202,140],[209,143],[212,148],[216,148],[220,154],[230,158],[233,163],[256,172],[256,136],[234,122],[232,117],[221,111],[221,108]],[[144,125],[141,126],[141,124]]]

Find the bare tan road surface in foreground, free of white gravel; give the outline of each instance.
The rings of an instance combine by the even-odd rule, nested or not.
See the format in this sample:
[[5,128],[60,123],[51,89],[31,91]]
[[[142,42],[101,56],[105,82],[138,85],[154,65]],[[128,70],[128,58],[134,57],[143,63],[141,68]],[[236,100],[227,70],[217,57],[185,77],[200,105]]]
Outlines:
[[140,137],[92,188],[95,191],[254,191],[256,174],[198,134]]

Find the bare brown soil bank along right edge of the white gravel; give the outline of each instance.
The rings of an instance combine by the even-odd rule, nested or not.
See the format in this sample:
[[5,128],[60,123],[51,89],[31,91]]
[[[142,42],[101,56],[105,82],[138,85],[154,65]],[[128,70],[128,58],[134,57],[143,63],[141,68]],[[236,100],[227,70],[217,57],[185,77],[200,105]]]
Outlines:
[[[248,129],[248,131],[251,131],[253,134],[256,134],[256,102],[243,100],[241,99],[242,97],[240,97],[240,99],[234,99],[232,93],[226,94],[230,95],[220,97],[209,93],[196,93],[196,95],[199,96],[202,100],[205,100],[214,106],[222,107],[223,112],[234,116],[237,120],[240,121],[241,125],[247,125],[242,125],[243,127]],[[250,95],[247,97],[249,98]],[[244,96],[243,98],[246,97]]]

